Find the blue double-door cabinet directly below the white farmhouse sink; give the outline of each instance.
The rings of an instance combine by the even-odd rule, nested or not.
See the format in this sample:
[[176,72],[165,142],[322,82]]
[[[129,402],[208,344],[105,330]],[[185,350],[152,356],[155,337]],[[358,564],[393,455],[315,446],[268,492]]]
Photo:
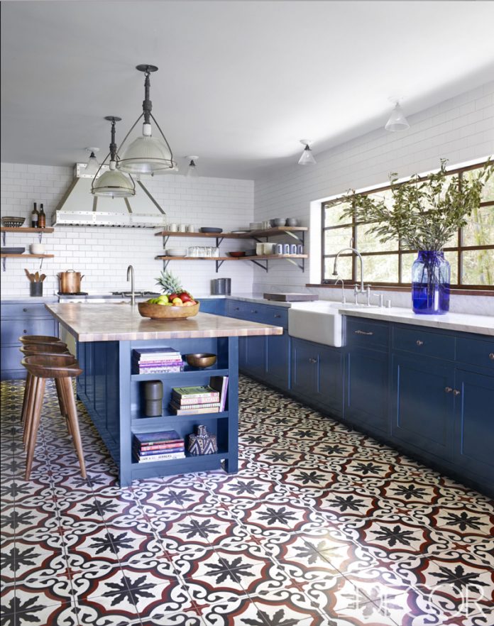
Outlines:
[[292,338],[293,395],[318,409],[341,417],[341,350]]

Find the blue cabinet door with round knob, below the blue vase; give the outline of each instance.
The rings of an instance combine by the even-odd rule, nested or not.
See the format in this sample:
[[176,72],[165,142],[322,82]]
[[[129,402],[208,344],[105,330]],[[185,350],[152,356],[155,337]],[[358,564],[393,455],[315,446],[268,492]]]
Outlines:
[[393,353],[392,432],[405,444],[451,460],[454,366]]

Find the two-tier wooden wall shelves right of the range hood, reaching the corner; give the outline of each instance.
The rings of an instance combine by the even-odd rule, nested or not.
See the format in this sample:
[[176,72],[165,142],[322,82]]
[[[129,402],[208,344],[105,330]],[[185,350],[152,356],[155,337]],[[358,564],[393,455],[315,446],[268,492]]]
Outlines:
[[[220,245],[220,243],[224,239],[253,239],[254,241],[261,242],[261,239],[265,239],[265,241],[269,241],[270,237],[275,236],[291,236],[295,238],[297,241],[300,241],[302,246],[305,243],[305,233],[307,232],[307,226],[273,226],[269,229],[258,229],[251,231],[241,231],[234,233],[223,233],[223,232],[177,232],[177,231],[160,231],[159,233],[155,233],[157,237],[163,237],[163,248],[166,248],[168,243],[168,239],[170,237],[190,237],[190,238],[214,238],[216,239],[216,248]],[[216,273],[218,272],[221,265],[223,265],[224,261],[239,261],[239,260],[250,260],[252,263],[255,263],[260,268],[263,268],[266,272],[269,271],[269,261],[270,260],[287,260],[289,263],[293,263],[297,266],[302,272],[305,270],[305,259],[308,258],[307,254],[263,254],[263,255],[245,255],[245,256],[167,256],[167,255],[158,255],[155,257],[156,259],[163,260],[163,267],[166,269],[170,260],[214,260],[216,263]],[[260,263],[260,261],[265,261],[265,264]]]

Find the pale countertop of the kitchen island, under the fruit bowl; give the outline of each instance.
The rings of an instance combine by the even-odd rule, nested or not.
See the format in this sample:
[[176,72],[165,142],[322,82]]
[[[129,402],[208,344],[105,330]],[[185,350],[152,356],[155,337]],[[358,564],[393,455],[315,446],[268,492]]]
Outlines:
[[134,341],[136,339],[197,339],[281,335],[281,326],[200,313],[184,319],[148,319],[129,304],[46,304],[48,311],[77,341]]

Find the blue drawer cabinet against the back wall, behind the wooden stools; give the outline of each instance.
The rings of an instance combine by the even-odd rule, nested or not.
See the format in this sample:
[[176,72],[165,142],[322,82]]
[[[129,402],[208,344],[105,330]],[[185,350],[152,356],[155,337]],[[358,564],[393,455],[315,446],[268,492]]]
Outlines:
[[21,335],[58,336],[58,324],[44,302],[2,302],[0,328],[1,380],[26,378],[19,351]]

